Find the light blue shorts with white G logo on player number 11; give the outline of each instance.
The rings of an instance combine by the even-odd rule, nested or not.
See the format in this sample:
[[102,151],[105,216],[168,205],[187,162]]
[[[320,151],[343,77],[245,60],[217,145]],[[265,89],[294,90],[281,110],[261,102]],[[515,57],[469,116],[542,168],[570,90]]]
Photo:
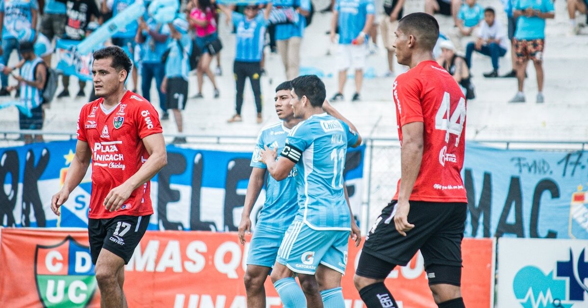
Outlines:
[[294,221],[278,251],[278,263],[295,273],[314,275],[319,264],[342,274],[347,265],[349,231],[318,231]]

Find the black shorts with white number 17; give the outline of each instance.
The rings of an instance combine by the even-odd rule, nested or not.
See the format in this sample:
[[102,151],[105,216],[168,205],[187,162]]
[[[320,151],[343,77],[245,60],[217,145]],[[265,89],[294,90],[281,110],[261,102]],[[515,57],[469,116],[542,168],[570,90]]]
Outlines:
[[149,217],[121,215],[106,219],[88,219],[88,236],[92,263],[96,264],[102,248],[129,263],[137,245],[143,238]]

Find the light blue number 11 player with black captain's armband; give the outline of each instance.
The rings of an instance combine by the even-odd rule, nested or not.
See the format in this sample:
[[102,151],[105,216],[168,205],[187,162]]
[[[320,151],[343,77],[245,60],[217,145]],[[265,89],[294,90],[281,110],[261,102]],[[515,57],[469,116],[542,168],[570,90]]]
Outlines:
[[[277,161],[269,147],[261,155],[276,180],[293,172],[298,189],[299,210],[280,245],[272,282],[285,308],[345,307],[340,278],[349,232],[356,226],[346,201],[343,169],[347,148],[358,146],[361,138],[349,121],[323,103],[325,85],[317,76],[292,80],[291,94],[294,116],[303,121],[290,131]],[[305,287],[315,276],[320,296]]]

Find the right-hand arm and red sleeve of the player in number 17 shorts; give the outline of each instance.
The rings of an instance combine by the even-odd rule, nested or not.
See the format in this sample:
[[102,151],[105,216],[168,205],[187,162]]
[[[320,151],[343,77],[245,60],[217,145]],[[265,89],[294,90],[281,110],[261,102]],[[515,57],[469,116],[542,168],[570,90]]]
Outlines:
[[[143,141],[149,157],[135,174],[108,192],[108,195],[106,195],[106,198],[102,202],[106,211],[112,212],[121,208],[135,189],[151,180],[159,170],[168,164],[168,153],[165,149],[163,130],[161,123],[159,123],[157,111],[155,111],[150,103],[143,101],[143,105],[138,107],[135,112],[135,119],[138,122],[138,137]],[[147,123],[146,117],[149,117],[151,123]]]

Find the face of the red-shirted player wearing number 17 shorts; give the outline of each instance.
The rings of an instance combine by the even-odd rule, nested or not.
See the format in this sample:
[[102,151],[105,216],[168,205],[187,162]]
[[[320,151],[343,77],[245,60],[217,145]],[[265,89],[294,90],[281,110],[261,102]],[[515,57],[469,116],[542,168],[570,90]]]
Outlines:
[[94,60],[92,65],[94,92],[98,97],[109,96],[125,82],[126,72],[112,67],[112,58]]

